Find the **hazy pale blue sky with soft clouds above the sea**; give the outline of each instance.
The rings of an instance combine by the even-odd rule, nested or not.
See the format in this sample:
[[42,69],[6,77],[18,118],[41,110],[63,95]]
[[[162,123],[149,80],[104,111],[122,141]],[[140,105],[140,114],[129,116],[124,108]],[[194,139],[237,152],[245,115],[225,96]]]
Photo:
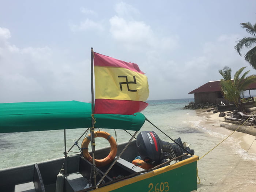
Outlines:
[[225,66],[232,76],[241,67],[256,73],[234,50],[251,37],[240,23],[256,23],[255,0],[0,4],[0,103],[91,101],[91,47],[138,64],[148,100],[193,98]]

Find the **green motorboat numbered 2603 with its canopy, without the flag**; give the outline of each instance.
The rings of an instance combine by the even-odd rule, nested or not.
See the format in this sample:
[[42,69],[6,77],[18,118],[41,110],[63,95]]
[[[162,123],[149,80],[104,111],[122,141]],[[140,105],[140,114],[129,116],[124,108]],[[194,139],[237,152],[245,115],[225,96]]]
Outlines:
[[[94,114],[91,103],[79,101],[0,103],[0,133],[49,131],[82,128],[89,131],[92,118],[95,131],[123,129],[133,132],[126,143],[95,150],[79,147],[80,154],[69,155],[64,143],[64,157],[29,165],[0,169],[1,192],[106,192],[106,191],[196,191],[197,155],[181,139],[163,141],[155,131],[140,131],[144,122],[152,124],[142,113],[133,115]],[[153,124],[154,125],[154,124]],[[47,134],[50,134],[47,132]],[[104,133],[103,135],[105,135]],[[90,134],[85,134],[90,139]],[[65,136],[65,134],[64,134]],[[99,134],[99,136],[101,136]],[[104,136],[102,136],[104,137]],[[64,137],[65,138],[65,137]],[[80,137],[81,138],[81,137]],[[108,136],[113,138],[113,136]],[[82,142],[82,143],[83,143]],[[72,146],[72,147],[73,147]],[[35,146],[37,147],[37,146]],[[71,147],[71,148],[72,148]],[[115,147],[116,150],[114,149]],[[114,154],[114,157],[109,157]],[[114,152],[113,152],[114,151]],[[11,153],[11,151],[10,151]],[[86,154],[104,161],[95,165]],[[94,160],[95,160],[94,159]]]

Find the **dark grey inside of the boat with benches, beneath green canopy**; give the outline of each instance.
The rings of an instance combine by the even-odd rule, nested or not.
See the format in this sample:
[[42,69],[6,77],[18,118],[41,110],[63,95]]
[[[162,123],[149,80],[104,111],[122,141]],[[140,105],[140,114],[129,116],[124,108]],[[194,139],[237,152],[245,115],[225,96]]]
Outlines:
[[[124,144],[118,145],[118,151],[122,150]],[[133,157],[138,156],[138,152],[134,149],[135,141],[129,146],[129,154],[124,153],[112,167],[109,174],[104,178],[105,182],[112,181],[116,176],[127,176],[136,172],[140,172],[144,169],[135,166],[131,163]],[[108,155],[109,147],[102,148],[95,153],[96,157],[104,157]],[[100,156],[99,156],[100,155]],[[126,158],[126,159],[124,159]],[[128,161],[127,161],[128,160]],[[46,191],[55,192],[56,178],[60,172],[64,163],[64,158],[53,159],[51,161],[41,162],[38,164],[26,165],[15,167],[12,169],[0,170],[1,182],[3,185],[0,187],[0,191],[6,192],[35,192]],[[67,173],[68,176],[64,178],[64,191],[74,192],[84,189],[90,178],[90,170],[92,163],[87,161],[81,155],[71,155],[67,158]],[[99,175],[97,181],[108,169],[108,166],[97,168]],[[8,185],[4,185],[4,184]]]

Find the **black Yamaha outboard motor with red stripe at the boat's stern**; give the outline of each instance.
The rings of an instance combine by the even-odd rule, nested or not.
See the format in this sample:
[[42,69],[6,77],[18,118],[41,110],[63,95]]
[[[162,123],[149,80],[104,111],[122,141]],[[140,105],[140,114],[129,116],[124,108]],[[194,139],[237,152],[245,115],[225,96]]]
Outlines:
[[[137,136],[136,145],[142,160],[151,164],[159,164],[163,159],[178,157],[183,153],[195,154],[180,138],[174,141],[175,143],[165,142],[154,131],[142,131]],[[178,160],[181,161],[182,158]]]

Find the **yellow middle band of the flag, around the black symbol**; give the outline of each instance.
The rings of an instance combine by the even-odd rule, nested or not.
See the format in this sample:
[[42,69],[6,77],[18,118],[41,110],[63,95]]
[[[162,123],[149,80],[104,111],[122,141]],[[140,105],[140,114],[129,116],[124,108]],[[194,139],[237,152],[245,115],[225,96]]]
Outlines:
[[[147,76],[126,68],[119,67],[94,67],[95,74],[95,99],[117,99],[117,100],[132,100],[146,101],[149,95]],[[127,79],[124,77],[127,76]],[[135,83],[133,82],[135,76]],[[120,84],[122,84],[122,91]],[[128,91],[136,90],[136,91]]]

